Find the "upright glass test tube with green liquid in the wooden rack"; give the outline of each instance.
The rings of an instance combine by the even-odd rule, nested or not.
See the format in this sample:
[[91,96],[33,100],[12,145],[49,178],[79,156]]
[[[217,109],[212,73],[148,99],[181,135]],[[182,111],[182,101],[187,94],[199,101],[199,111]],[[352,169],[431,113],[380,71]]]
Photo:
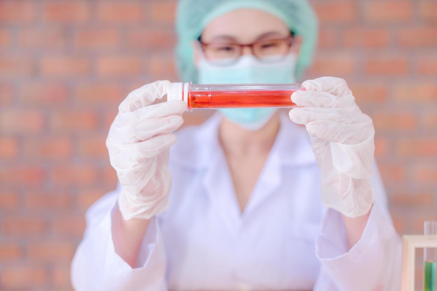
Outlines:
[[[437,221],[425,221],[424,235],[437,235]],[[423,249],[423,290],[436,291],[437,248]]]

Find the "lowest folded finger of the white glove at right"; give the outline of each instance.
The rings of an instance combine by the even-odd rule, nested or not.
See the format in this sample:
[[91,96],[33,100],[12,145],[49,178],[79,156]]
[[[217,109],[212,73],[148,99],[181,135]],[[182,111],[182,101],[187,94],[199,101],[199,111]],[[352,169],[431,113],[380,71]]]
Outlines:
[[319,139],[337,144],[360,144],[375,135],[371,119],[367,123],[344,124],[329,120],[311,121],[306,130]]

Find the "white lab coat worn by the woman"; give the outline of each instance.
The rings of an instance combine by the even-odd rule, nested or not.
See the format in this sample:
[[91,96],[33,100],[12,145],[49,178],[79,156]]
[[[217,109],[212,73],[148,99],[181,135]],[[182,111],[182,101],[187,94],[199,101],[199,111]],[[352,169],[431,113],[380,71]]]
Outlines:
[[240,213],[218,141],[218,114],[180,130],[170,150],[170,207],[152,218],[138,267],[111,238],[119,188],[87,211],[72,264],[76,290],[399,290],[400,239],[375,171],[375,203],[347,248],[341,214],[320,199],[320,169],[304,127],[281,128]]

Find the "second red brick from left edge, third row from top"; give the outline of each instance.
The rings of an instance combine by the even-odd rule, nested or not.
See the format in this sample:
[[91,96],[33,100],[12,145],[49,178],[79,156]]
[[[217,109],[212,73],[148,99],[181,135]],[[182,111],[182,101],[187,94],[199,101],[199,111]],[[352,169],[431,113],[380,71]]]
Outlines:
[[80,76],[88,73],[86,58],[70,56],[45,56],[41,60],[41,73],[47,76]]

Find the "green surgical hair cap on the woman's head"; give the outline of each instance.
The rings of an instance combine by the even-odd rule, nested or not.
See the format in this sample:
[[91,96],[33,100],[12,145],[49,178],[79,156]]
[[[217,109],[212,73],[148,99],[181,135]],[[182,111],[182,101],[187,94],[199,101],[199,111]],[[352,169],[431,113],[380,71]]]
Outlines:
[[317,41],[317,18],[307,0],[180,0],[176,13],[177,68],[181,81],[198,81],[192,41],[197,40],[212,19],[239,8],[271,13],[302,37],[296,77],[312,63]]

